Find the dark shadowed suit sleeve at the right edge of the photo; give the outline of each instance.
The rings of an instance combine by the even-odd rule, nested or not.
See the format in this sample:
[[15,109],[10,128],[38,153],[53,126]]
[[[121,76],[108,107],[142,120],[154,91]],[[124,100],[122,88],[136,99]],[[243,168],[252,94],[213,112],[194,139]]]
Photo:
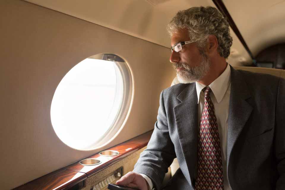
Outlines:
[[275,117],[275,154],[279,178],[276,189],[285,189],[285,80],[280,79],[277,91]]

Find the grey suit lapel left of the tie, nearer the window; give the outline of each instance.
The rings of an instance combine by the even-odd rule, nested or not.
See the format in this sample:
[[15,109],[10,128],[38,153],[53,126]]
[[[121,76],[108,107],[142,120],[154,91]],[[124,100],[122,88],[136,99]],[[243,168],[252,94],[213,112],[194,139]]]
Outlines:
[[198,147],[198,99],[195,83],[187,85],[187,87],[177,96],[177,99],[180,100],[181,103],[175,106],[173,110],[178,138],[188,169],[186,173],[189,174],[189,176],[185,177],[193,184],[193,179],[196,178],[197,175]]

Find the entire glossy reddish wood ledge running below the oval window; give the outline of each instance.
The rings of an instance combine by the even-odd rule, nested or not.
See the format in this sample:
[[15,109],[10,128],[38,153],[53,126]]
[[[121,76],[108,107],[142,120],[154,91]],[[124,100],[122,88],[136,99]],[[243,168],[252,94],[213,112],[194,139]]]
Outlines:
[[[153,130],[142,135],[134,137],[124,143],[108,148],[107,150],[118,151],[116,156],[101,156],[99,153],[94,154],[88,158],[95,158],[102,161],[101,164],[94,166],[83,166],[78,162],[71,164],[62,169],[51,172],[40,178],[37,178],[29,183],[15,188],[14,190],[22,189],[37,189],[37,190],[61,190],[68,189],[87,177],[103,170],[109,165],[123,159],[124,157],[134,153],[135,151],[145,147],[151,137]],[[87,159],[87,158],[86,158]]]

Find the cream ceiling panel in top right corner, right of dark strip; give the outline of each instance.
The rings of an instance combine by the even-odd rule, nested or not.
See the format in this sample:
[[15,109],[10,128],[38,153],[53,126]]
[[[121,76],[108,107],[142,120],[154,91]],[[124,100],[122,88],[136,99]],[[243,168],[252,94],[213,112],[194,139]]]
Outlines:
[[266,47],[285,42],[284,0],[223,2],[254,56]]

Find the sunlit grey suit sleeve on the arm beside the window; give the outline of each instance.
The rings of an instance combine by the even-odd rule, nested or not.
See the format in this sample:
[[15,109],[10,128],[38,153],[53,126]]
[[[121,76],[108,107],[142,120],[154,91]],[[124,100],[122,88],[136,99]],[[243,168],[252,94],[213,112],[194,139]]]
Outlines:
[[160,189],[164,175],[176,157],[169,135],[163,94],[164,91],[160,94],[160,105],[153,134],[133,170],[151,178],[156,189]]

